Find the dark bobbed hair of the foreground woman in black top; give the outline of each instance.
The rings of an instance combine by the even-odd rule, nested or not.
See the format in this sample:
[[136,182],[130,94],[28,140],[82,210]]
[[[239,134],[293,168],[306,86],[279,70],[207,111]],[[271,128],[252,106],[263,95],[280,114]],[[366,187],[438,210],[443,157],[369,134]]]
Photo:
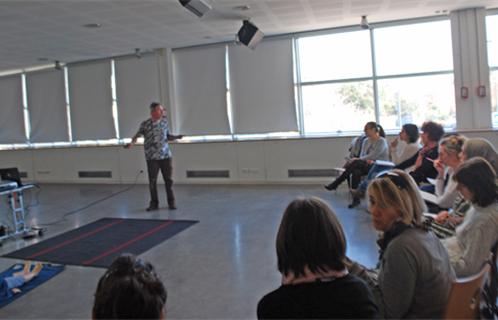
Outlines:
[[346,237],[341,223],[321,199],[298,198],[285,209],[277,234],[278,270],[296,277],[344,269]]

